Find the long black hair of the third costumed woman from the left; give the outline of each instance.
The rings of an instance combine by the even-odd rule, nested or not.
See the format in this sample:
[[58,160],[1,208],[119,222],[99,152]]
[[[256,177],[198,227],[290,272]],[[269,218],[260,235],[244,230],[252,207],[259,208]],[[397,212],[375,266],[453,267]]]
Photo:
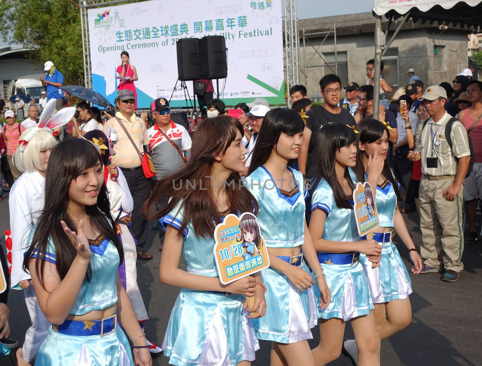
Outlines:
[[293,109],[274,108],[266,113],[256,139],[256,145],[254,145],[248,175],[266,163],[271,151],[278,143],[281,133],[293,136],[304,129],[305,122],[303,122],[299,113],[296,113]]

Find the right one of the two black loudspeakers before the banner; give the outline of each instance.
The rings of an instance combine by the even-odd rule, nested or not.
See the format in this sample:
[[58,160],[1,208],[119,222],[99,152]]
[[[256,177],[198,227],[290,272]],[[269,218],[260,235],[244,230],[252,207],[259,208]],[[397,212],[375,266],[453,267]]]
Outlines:
[[224,79],[228,76],[226,40],[223,36],[201,38],[199,41],[199,64],[201,79]]

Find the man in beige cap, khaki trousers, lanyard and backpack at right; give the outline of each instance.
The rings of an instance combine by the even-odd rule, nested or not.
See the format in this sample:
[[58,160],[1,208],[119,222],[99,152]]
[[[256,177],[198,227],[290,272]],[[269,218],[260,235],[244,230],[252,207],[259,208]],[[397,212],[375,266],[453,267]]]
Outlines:
[[[464,269],[462,203],[470,163],[469,141],[462,123],[445,111],[445,89],[429,86],[422,97],[430,118],[418,126],[416,149],[408,154],[410,160],[422,162],[420,255],[424,264],[420,273],[445,270],[441,280],[455,282]],[[438,259],[442,249],[444,268]]]

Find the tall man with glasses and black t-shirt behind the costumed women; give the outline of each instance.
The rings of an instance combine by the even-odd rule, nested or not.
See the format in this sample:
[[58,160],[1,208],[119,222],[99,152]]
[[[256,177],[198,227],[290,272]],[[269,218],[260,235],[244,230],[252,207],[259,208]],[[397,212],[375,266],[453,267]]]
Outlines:
[[[303,177],[309,180],[310,190],[307,200],[307,219],[310,216],[311,195],[320,182],[318,169],[318,149],[316,135],[318,130],[328,123],[343,123],[355,125],[355,119],[348,109],[340,108],[338,103],[341,99],[341,81],[335,74],[328,74],[320,80],[321,96],[324,99],[322,106],[313,106],[306,112],[306,127],[303,133],[303,143],[298,155],[298,169]],[[308,160],[309,154],[309,160]]]

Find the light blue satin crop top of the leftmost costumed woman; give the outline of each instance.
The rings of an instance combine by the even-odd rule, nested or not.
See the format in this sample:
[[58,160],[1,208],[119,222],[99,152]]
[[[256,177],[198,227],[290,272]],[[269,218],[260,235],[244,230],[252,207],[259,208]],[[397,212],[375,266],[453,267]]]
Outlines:
[[[27,244],[32,243],[37,225],[32,227],[27,238]],[[70,245],[70,244],[69,244]],[[94,310],[103,310],[117,302],[117,271],[119,269],[119,253],[117,248],[106,239],[103,234],[91,241],[89,246],[92,250],[90,266],[92,279],[90,282],[84,279],[80,286],[79,296],[70,311],[72,315],[83,315]],[[39,251],[32,253],[31,258],[41,258]],[[45,260],[55,264],[55,246],[49,237]]]

